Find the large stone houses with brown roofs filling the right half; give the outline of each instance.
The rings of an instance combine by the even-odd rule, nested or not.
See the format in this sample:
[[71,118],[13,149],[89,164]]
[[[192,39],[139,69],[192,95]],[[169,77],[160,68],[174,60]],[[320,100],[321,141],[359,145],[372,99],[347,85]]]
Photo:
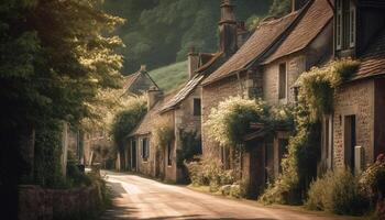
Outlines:
[[[385,152],[385,3],[371,0],[294,0],[292,13],[261,23],[248,42],[202,84],[202,120],[231,96],[262,98],[271,106],[296,102],[296,81],[312,66],[333,58],[361,61],[358,73],[334,95],[334,111],[322,120],[318,167],[360,172]],[[233,152],[207,135],[202,154],[231,168]],[[256,197],[280,169],[286,128],[266,138],[263,128],[246,136],[242,179]]]

